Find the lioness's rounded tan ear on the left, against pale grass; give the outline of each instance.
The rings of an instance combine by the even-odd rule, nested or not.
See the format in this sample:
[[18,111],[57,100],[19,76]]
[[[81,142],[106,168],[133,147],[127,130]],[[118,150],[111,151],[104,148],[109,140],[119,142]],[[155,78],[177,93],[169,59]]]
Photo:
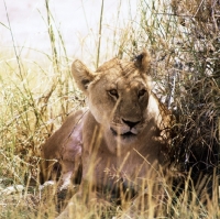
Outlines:
[[95,74],[90,72],[84,63],[76,59],[72,64],[72,74],[74,76],[74,79],[80,90],[84,92],[87,92],[87,88],[89,83],[92,81],[95,78]]

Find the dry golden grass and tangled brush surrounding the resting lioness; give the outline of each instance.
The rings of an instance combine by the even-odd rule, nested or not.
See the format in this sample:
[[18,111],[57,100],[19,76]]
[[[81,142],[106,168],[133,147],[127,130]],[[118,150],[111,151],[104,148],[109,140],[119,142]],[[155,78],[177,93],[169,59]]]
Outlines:
[[[53,23],[46,2],[46,20]],[[219,1],[193,0],[189,4],[173,0],[169,4],[140,0],[139,3],[136,20],[123,30],[116,29],[111,43],[119,57],[132,58],[142,47],[151,51],[154,90],[176,116],[173,168],[184,173],[186,178],[182,183],[173,182],[173,189],[163,180],[166,196],[156,208],[152,200],[145,208],[147,201],[139,198],[131,208],[133,217],[136,213],[138,218],[153,218],[156,211],[157,218],[218,218]],[[70,61],[62,33],[54,25],[48,26],[52,54],[45,56],[47,67],[21,58],[15,46],[0,58],[1,218],[54,218],[56,190],[52,187],[50,195],[42,194],[36,186],[37,151],[66,114],[85,105],[69,74]],[[57,44],[63,48],[62,55],[57,54]],[[97,51],[100,56],[106,55],[98,47]],[[15,58],[12,58],[14,53]],[[94,59],[99,62],[99,56]],[[11,185],[23,185],[24,189],[4,195],[3,189]],[[95,205],[88,210],[76,204],[75,208],[76,218],[110,218],[129,212],[113,205]]]

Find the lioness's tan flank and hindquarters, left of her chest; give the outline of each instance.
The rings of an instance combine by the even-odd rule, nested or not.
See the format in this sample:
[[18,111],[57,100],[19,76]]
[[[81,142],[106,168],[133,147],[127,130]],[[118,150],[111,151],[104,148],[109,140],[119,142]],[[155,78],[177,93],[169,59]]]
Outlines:
[[[62,168],[62,184],[68,186],[77,178],[81,164],[81,117],[84,110],[70,114],[64,124],[41,147],[41,183],[55,179]],[[59,169],[57,169],[59,168]]]

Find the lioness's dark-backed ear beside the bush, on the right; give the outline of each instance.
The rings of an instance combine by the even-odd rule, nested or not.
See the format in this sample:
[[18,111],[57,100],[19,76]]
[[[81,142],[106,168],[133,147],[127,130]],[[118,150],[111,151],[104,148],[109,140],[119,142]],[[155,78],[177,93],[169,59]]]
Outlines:
[[147,74],[147,72],[151,69],[151,55],[150,55],[150,53],[147,51],[143,51],[141,54],[135,56],[134,65],[141,72],[144,72],[144,73]]

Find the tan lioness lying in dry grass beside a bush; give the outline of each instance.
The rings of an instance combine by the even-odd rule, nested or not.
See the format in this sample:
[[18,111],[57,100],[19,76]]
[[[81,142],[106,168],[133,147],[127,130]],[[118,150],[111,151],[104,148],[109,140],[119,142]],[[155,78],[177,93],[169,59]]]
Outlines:
[[[167,161],[170,118],[152,92],[150,66],[147,52],[134,62],[113,58],[96,72],[80,61],[73,63],[88,110],[67,118],[42,147],[43,158],[62,165],[61,187],[68,187],[81,166],[81,193],[100,191],[105,198],[107,193],[136,193],[158,176]],[[50,179],[52,162],[44,162],[44,180]]]

